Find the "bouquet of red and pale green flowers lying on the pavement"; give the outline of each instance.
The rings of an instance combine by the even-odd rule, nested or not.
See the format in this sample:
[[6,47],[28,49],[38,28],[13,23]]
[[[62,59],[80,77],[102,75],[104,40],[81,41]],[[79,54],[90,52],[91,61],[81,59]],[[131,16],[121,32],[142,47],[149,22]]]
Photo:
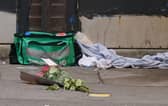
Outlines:
[[89,88],[84,85],[83,80],[72,78],[68,72],[58,66],[43,66],[37,75],[58,83],[49,86],[47,90],[58,90],[61,87],[60,85],[62,85],[65,90],[89,93]]

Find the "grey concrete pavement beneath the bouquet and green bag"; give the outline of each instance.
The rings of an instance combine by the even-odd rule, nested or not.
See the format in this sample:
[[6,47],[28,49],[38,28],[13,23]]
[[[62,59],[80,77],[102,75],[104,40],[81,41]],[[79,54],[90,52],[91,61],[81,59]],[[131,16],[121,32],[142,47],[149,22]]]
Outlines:
[[20,70],[39,67],[0,65],[0,106],[167,106],[168,70],[110,69],[100,70],[101,84],[93,68],[67,67],[73,77],[86,81],[93,92],[111,97],[89,97],[86,93],[47,91],[46,86],[20,80]]

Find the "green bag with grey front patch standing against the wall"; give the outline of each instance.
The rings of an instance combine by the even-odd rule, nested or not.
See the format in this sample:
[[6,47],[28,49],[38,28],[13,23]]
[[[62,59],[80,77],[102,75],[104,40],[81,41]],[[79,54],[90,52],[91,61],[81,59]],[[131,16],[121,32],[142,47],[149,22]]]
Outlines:
[[50,58],[63,66],[74,65],[74,37],[55,36],[45,32],[16,33],[14,36],[17,59],[20,64],[44,65],[41,58]]

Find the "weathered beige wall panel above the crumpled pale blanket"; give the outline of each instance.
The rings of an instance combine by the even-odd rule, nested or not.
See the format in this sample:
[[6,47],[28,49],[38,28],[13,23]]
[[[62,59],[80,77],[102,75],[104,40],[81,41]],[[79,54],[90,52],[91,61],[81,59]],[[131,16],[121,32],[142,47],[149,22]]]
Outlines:
[[80,18],[82,32],[112,48],[168,48],[168,18],[114,16]]

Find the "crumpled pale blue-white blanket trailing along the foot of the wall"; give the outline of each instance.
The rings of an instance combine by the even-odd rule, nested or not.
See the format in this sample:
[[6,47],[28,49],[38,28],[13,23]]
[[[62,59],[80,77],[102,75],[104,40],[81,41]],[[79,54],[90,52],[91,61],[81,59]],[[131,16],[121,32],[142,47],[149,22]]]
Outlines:
[[144,57],[130,58],[117,55],[112,49],[107,49],[102,44],[86,45],[78,41],[83,57],[79,60],[80,66],[98,68],[160,68],[168,69],[168,52]]

